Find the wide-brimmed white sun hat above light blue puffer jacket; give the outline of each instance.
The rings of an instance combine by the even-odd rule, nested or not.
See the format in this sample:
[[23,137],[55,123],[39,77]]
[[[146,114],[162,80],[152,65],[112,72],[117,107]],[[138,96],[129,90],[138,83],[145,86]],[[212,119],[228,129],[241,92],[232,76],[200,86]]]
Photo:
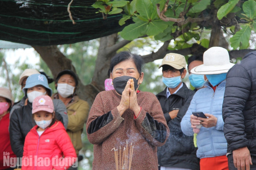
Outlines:
[[235,64],[229,60],[228,50],[222,47],[211,47],[204,52],[204,64],[191,69],[191,73],[198,75],[212,75],[227,73]]

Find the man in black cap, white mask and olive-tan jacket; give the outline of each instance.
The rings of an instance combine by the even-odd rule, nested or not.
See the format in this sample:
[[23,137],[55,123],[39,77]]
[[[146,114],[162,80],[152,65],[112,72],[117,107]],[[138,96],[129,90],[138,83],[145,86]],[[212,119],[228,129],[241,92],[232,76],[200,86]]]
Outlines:
[[[52,95],[54,99],[60,99],[63,101],[67,108],[68,125],[67,133],[76,149],[78,156],[79,150],[82,149],[81,135],[83,132],[83,125],[85,124],[88,112],[89,104],[87,101],[81,100],[76,95],[76,88],[78,80],[76,74],[71,70],[63,70],[58,73],[55,79],[55,87],[57,93]],[[80,159],[80,157],[79,157]],[[74,170],[77,168],[70,167]]]

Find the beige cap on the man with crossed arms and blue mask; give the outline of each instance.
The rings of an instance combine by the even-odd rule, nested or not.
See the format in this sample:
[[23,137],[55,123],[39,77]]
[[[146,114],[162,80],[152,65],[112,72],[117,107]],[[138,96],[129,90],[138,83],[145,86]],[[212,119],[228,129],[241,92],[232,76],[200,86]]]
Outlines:
[[186,59],[184,56],[177,54],[177,53],[168,53],[165,55],[162,64],[163,65],[169,65],[172,66],[174,69],[180,70],[182,68],[186,68]]

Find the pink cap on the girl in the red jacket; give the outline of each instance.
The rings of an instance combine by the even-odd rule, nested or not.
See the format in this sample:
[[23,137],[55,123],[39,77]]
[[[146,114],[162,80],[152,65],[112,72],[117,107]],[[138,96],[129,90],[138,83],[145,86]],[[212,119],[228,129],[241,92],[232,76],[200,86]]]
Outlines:
[[36,97],[32,103],[32,114],[38,111],[47,111],[49,113],[53,113],[54,104],[52,102],[52,98],[48,95],[41,95]]

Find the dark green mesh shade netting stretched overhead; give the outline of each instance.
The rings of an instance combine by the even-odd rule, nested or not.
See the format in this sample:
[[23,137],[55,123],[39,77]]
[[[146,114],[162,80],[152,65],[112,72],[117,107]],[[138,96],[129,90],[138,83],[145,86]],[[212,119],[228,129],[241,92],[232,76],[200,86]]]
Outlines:
[[121,31],[122,15],[103,19],[95,0],[0,0],[0,40],[29,45],[57,45],[92,40]]

